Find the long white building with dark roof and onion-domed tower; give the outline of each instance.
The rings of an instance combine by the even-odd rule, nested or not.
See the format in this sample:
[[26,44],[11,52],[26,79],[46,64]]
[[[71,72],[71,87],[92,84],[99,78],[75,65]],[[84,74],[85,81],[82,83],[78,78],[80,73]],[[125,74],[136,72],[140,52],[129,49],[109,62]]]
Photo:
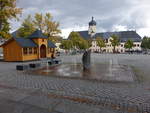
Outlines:
[[[90,47],[92,52],[100,52],[101,50],[104,52],[112,53],[113,46],[110,42],[111,36],[116,35],[120,39],[120,45],[116,47],[116,51],[120,53],[124,53],[126,51],[124,45],[127,40],[132,40],[134,43],[134,47],[132,51],[141,51],[141,37],[136,33],[136,31],[120,31],[120,32],[102,32],[97,33],[96,31],[96,21],[92,17],[92,20],[89,22],[89,28],[87,31],[77,31],[81,37],[84,39],[92,39],[92,46]],[[106,42],[106,47],[103,47],[100,50],[100,47],[97,46],[97,42],[95,40],[96,37],[101,37]]]

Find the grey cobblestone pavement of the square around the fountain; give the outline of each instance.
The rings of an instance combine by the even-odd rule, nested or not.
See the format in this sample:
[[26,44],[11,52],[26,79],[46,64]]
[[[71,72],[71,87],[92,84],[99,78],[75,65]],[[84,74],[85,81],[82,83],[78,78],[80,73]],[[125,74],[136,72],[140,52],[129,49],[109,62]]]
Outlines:
[[[66,58],[70,61],[62,57],[63,62],[78,63],[81,56],[73,59],[68,57]],[[118,57],[119,62],[114,59],[116,55],[94,57],[96,63],[109,63],[108,59],[111,58],[113,64],[125,64],[123,60],[127,56],[123,56],[123,60]],[[98,60],[99,57],[101,60]],[[145,59],[148,61],[147,56]],[[150,112],[150,87],[147,82],[114,83],[28,75],[16,71],[16,64],[18,63],[0,62],[0,113]],[[139,106],[143,107],[137,109]]]

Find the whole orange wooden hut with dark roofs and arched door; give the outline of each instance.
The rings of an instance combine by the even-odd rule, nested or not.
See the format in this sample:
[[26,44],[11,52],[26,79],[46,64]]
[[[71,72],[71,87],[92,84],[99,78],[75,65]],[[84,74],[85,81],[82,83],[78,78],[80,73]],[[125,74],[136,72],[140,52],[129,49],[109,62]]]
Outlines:
[[28,38],[11,38],[3,45],[4,61],[30,61],[55,57],[56,46],[40,30]]

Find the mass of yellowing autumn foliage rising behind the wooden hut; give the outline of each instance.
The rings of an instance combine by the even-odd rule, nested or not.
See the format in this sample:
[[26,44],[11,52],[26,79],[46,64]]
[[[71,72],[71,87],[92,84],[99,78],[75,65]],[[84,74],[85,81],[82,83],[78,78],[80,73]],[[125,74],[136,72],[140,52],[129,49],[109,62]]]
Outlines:
[[53,21],[52,15],[46,13],[36,13],[34,17],[30,15],[23,21],[21,27],[19,28],[19,35],[26,37],[30,35],[35,29],[41,30],[50,40],[55,40],[57,35],[61,33],[59,29],[59,23]]

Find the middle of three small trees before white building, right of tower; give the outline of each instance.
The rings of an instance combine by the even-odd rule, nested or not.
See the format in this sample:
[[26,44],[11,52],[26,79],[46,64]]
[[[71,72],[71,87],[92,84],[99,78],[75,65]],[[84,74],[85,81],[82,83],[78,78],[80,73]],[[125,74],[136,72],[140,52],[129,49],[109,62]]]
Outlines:
[[118,46],[120,44],[119,37],[117,35],[112,35],[111,38],[112,39],[110,40],[110,42],[113,46],[113,53],[115,53],[116,52],[116,46]]

